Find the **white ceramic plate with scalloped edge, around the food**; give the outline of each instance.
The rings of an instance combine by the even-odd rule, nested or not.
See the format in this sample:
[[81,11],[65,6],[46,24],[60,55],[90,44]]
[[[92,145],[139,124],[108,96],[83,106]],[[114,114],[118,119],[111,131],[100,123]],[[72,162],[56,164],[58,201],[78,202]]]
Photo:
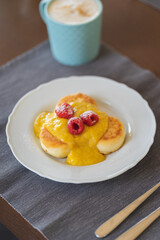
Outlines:
[[[40,112],[53,111],[60,98],[76,92],[93,97],[102,111],[118,117],[125,126],[124,146],[91,166],[69,166],[49,156],[33,132],[33,121]],[[147,154],[155,131],[155,117],[139,93],[97,76],[73,76],[40,85],[19,100],[6,128],[8,144],[21,164],[40,176],[68,183],[98,182],[124,173]]]

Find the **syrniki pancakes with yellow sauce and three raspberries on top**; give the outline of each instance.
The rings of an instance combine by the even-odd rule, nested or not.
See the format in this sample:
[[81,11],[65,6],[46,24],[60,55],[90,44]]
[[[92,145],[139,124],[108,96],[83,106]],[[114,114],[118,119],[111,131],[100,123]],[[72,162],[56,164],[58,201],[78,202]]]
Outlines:
[[104,154],[118,150],[125,139],[120,120],[101,112],[96,102],[82,93],[62,98],[52,113],[41,113],[34,131],[45,152],[67,157],[66,162],[76,166],[105,160]]

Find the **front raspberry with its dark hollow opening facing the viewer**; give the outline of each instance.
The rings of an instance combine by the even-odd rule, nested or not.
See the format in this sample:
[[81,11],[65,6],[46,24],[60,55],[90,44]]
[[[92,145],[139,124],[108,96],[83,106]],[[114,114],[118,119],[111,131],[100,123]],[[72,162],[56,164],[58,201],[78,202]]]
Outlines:
[[81,118],[73,117],[68,120],[68,130],[73,135],[78,135],[83,132],[84,126]]

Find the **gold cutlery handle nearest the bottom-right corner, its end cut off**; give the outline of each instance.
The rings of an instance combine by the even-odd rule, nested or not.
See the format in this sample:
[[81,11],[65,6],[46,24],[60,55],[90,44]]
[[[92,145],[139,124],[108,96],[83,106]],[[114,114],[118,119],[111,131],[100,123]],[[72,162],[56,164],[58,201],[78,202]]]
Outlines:
[[136,239],[152,222],[154,222],[160,216],[160,208],[157,208],[154,212],[135,224],[128,231],[120,235],[116,240],[134,240]]

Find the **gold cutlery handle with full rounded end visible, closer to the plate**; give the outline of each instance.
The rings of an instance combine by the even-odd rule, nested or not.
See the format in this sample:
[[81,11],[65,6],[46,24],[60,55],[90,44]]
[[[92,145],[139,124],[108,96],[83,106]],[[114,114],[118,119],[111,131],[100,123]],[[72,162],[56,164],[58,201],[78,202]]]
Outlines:
[[141,203],[143,203],[153,192],[155,192],[160,186],[160,182],[156,184],[153,188],[148,190],[142,196],[137,198],[135,201],[130,203],[128,206],[123,208],[120,212],[115,214],[109,220],[104,222],[97,230],[95,235],[98,238],[103,238],[111,233],[120,223],[122,223]]

